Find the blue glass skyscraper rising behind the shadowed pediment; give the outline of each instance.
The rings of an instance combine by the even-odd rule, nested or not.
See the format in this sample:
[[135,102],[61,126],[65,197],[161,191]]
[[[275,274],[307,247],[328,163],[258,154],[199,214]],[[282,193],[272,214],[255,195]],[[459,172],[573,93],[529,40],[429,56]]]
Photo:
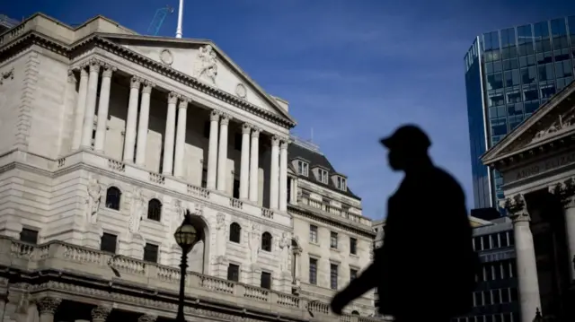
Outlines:
[[475,208],[499,207],[503,178],[479,158],[571,83],[575,16],[483,33],[464,64]]

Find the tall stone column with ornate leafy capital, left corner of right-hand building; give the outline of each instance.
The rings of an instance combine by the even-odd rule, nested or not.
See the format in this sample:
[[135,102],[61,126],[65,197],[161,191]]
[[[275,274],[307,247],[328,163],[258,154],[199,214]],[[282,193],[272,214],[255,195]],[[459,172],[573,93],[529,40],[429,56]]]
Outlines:
[[513,221],[521,321],[532,322],[535,311],[541,309],[541,298],[533,234],[529,228],[529,213],[527,213],[526,201],[522,195],[507,198],[504,207]]

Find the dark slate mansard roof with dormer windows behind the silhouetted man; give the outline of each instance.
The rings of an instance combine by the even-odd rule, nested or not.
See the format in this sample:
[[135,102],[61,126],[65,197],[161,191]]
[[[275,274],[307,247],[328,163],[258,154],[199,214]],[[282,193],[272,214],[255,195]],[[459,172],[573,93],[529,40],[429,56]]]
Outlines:
[[[352,198],[357,199],[357,200],[361,200],[361,198],[359,196],[357,196],[353,192],[351,192],[351,189],[349,189],[349,186],[347,187],[347,189],[348,189],[347,191],[341,191],[340,189],[335,187],[335,185],[332,182],[331,177],[333,174],[339,174],[339,172],[333,168],[332,163],[330,163],[330,161],[327,160],[327,158],[325,157],[325,155],[323,155],[323,153],[315,152],[313,150],[305,148],[304,146],[301,146],[301,145],[297,144],[296,142],[294,142],[294,143],[288,145],[288,158],[289,158],[289,161],[292,161],[296,158],[301,158],[301,159],[304,159],[305,161],[309,162],[309,177],[299,175],[299,174],[297,174],[297,171],[295,170],[294,173],[296,173],[298,178],[303,178],[307,181],[311,181],[318,186],[327,187],[330,190],[332,190],[333,192],[337,192],[339,194],[349,196],[349,197],[352,197]],[[323,183],[322,181],[319,181],[317,178],[315,178],[315,176],[312,172],[312,169],[314,169],[314,167],[316,167],[316,166],[320,166],[320,167],[323,167],[326,170],[328,170],[328,172],[329,172],[328,175],[330,176],[330,179],[328,180],[329,183],[327,183],[327,184]]]

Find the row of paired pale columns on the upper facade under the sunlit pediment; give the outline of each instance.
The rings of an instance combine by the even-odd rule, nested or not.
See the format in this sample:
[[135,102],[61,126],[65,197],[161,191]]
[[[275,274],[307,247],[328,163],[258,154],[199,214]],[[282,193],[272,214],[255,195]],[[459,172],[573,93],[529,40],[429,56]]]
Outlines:
[[[91,149],[104,152],[106,123],[110,108],[111,77],[116,67],[92,59],[80,68],[80,84],[75,106],[74,139],[72,149]],[[102,73],[101,73],[102,71]],[[97,100],[98,81],[102,74],[100,99]],[[155,83],[138,76],[130,79],[128,116],[124,136],[123,161],[146,165],[146,143],[150,117],[150,99]],[[184,176],[187,109],[192,101],[174,91],[166,98],[166,124],[162,172],[176,178]],[[96,103],[98,113],[95,115]],[[139,103],[139,115],[138,115]],[[176,113],[177,109],[177,113]],[[94,119],[97,120],[93,138]],[[216,109],[210,114],[208,138],[207,188],[225,192],[227,187],[228,125],[232,117]],[[257,203],[259,198],[259,162],[261,129],[248,123],[242,126],[242,154],[240,164],[240,199]],[[271,137],[270,209],[287,211],[288,198],[288,138]]]

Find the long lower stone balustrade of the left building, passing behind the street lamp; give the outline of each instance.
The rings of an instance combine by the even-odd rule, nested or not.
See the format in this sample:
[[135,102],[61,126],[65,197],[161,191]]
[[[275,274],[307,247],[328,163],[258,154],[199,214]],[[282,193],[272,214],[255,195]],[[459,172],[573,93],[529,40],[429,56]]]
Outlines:
[[[55,270],[77,274],[91,274],[110,279],[111,269],[119,273],[126,283],[144,285],[144,288],[173,292],[179,290],[180,269],[144,262],[130,257],[114,256],[92,248],[75,246],[62,241],[31,245],[22,241],[0,237],[0,265],[22,270]],[[115,279],[115,278],[114,278]],[[142,286],[140,286],[142,287]],[[188,272],[186,295],[202,300],[225,300],[239,307],[272,309],[281,315],[305,317],[312,312],[315,320],[332,321],[329,306],[317,300],[308,300],[291,294],[235,283],[205,274]],[[331,318],[330,318],[331,317]],[[341,321],[375,322],[378,318],[360,318],[344,315]]]

